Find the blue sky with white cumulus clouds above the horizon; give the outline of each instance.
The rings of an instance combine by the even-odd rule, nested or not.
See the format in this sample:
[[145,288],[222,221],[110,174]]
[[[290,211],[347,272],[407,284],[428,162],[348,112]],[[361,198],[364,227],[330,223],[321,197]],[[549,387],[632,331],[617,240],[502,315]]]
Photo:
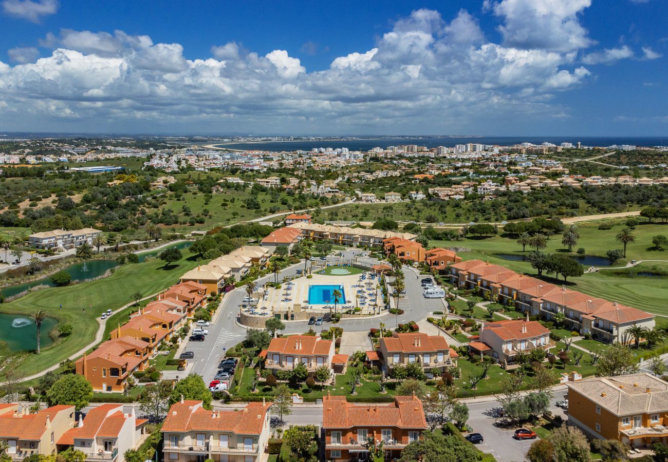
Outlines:
[[664,0],[0,1],[2,130],[668,135]]

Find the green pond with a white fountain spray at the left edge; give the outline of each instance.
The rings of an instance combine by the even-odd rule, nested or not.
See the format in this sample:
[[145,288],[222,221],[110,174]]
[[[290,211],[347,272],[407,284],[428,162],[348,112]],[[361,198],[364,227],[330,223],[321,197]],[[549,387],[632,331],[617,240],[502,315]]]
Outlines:
[[[41,348],[53,343],[49,331],[57,324],[54,318],[46,318],[39,329]],[[7,342],[9,351],[33,351],[37,348],[37,326],[24,314],[0,313],[0,339]]]

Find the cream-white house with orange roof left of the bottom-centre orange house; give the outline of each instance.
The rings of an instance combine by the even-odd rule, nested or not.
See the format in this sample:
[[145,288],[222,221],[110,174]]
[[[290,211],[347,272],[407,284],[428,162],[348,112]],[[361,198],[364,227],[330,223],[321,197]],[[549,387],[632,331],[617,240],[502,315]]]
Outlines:
[[181,399],[170,407],[162,425],[165,462],[261,461],[269,440],[272,404],[263,401],[240,409],[208,411],[202,401]]

